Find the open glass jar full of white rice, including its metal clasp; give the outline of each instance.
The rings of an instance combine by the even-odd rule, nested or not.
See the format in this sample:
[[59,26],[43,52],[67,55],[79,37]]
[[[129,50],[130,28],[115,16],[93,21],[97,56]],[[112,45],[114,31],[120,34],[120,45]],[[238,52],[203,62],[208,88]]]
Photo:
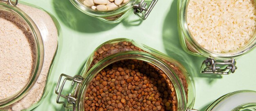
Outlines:
[[237,69],[235,59],[254,49],[254,6],[253,0],[178,1],[182,48],[192,55],[207,57],[201,73],[234,73]]

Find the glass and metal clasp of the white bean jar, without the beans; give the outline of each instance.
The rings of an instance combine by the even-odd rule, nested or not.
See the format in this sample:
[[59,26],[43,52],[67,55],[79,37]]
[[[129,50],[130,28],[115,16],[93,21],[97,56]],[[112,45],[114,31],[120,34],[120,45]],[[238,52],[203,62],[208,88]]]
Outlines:
[[77,9],[79,9],[80,11],[89,16],[99,18],[100,20],[108,23],[119,23],[125,18],[127,18],[127,16],[129,16],[130,13],[132,12],[134,12],[142,20],[146,20],[146,18],[148,17],[149,13],[151,12],[151,10],[153,9],[158,0],[152,0],[148,7],[146,7],[147,3],[145,2],[149,1],[144,2],[144,0],[130,0],[125,4],[122,4],[121,7],[109,11],[94,10],[91,7],[83,5],[81,0],[70,1]]

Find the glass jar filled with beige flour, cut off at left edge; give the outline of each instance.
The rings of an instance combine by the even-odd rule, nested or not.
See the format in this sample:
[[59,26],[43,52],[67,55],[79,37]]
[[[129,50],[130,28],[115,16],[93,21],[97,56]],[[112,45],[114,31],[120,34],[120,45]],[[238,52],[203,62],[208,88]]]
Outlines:
[[[13,60],[11,62],[5,61],[2,64],[6,65],[1,66],[1,68],[8,69],[8,71],[16,70],[16,65],[20,64],[20,60],[28,59],[27,56],[22,56],[24,53],[31,51],[29,55],[33,56],[31,56],[31,66],[26,66],[29,64],[27,62],[20,66],[18,65],[20,68],[18,72],[10,73],[7,71],[0,73],[1,77],[6,77],[5,80],[1,81],[1,89],[7,87],[7,84],[16,84],[17,87],[20,87],[20,89],[14,91],[13,89],[8,89],[8,87],[6,91],[0,91],[0,95],[3,96],[0,98],[0,110],[29,111],[42,102],[52,87],[50,73],[54,64],[53,60],[61,29],[54,16],[39,7],[25,2],[18,2],[18,0],[0,0],[0,13],[1,20],[9,21],[8,24],[1,23],[0,29],[3,33],[0,33],[0,39],[8,41],[6,38],[11,38],[8,42],[1,43],[4,45],[0,46],[3,52],[0,54],[0,58],[6,58],[8,56],[6,54],[13,55]],[[18,29],[12,29],[13,27],[8,26],[14,26]],[[25,42],[26,40],[29,41],[27,45],[30,49],[22,50],[22,47],[27,47],[24,45],[26,43],[24,41],[20,42],[16,34],[19,36],[25,35],[24,40]],[[17,44],[17,50],[8,46],[9,42],[12,44],[11,46]],[[15,67],[10,67],[9,64]],[[29,69],[30,72],[26,73],[26,77],[22,75],[24,67],[31,68]],[[24,86],[22,86],[23,84]],[[4,95],[6,93],[11,94]]]

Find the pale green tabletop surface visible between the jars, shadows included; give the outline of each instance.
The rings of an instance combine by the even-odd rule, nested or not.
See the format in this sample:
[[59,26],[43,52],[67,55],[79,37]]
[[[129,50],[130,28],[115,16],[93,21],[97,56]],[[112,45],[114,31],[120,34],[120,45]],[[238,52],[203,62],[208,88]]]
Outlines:
[[[92,51],[101,43],[114,38],[130,38],[157,49],[180,61],[191,72],[195,82],[195,109],[203,111],[220,96],[238,90],[256,91],[256,50],[237,60],[234,74],[213,76],[199,73],[205,58],[185,53],[177,33],[177,1],[159,0],[147,20],[139,26],[127,21],[108,24],[81,13],[69,0],[22,0],[42,7],[52,13],[61,24],[63,35],[58,41],[58,53],[53,67],[56,84],[61,73],[75,75]],[[131,19],[136,19],[131,15]],[[175,53],[174,53],[175,52]],[[56,104],[56,85],[40,106],[34,111],[63,111]]]

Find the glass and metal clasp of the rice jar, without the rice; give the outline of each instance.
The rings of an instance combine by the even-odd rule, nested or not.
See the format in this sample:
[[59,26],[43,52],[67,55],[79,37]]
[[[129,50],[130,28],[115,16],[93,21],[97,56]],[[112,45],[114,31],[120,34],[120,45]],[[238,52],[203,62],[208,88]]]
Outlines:
[[244,56],[256,46],[256,36],[253,33],[252,38],[243,47],[229,52],[214,52],[202,47],[192,36],[188,22],[187,10],[190,0],[178,0],[178,29],[182,48],[194,56],[207,57],[201,66],[201,73],[229,74],[237,69],[236,58]]

